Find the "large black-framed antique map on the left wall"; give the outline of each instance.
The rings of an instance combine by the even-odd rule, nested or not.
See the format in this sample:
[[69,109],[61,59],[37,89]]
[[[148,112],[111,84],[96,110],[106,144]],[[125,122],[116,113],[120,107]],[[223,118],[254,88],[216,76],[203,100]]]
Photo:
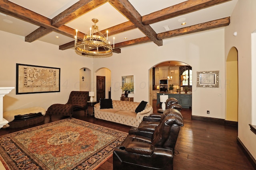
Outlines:
[[60,92],[60,68],[16,64],[16,94]]

